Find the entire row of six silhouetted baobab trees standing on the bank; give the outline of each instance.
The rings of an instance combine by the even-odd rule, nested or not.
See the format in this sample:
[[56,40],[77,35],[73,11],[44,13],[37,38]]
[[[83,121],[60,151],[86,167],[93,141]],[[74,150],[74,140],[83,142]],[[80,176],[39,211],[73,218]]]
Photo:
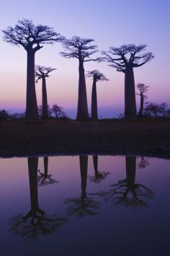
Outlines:
[[[49,116],[46,79],[55,69],[35,65],[35,53],[45,44],[53,43],[62,43],[64,50],[61,52],[61,56],[76,58],[79,62],[79,93],[76,120],[86,120],[89,118],[86,77],[92,77],[93,79],[91,93],[91,119],[93,120],[98,119],[97,81],[108,81],[104,74],[96,69],[85,74],[84,63],[89,61],[97,63],[104,61],[112,68],[125,74],[125,117],[131,118],[137,115],[133,69],[143,66],[154,58],[153,53],[146,52],[146,45],[126,44],[120,46],[120,48],[110,47],[109,50],[102,51],[101,56],[96,57],[96,53],[99,53],[99,50],[97,50],[97,45],[94,45],[93,39],[79,36],[73,36],[71,39],[68,39],[55,32],[53,27],[34,25],[32,20],[19,20],[17,25],[7,27],[3,32],[6,43],[21,45],[27,52],[26,120],[32,121],[38,118],[35,79],[36,81],[42,80],[42,118],[47,119]],[[141,116],[143,115],[143,105],[145,104],[148,86],[138,84],[137,88],[140,95],[140,111],[138,115]]]

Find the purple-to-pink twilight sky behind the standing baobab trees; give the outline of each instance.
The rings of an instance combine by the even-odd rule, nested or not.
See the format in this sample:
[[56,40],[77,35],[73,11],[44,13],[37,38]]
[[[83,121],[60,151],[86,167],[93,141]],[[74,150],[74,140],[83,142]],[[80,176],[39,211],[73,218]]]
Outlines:
[[[95,40],[99,50],[124,43],[146,43],[155,58],[135,69],[135,84],[150,86],[149,102],[170,105],[170,1],[162,0],[42,0],[2,1],[0,28],[14,26],[18,19],[32,19],[35,25],[49,25],[66,37],[79,35]],[[23,112],[26,96],[26,51],[5,43],[0,32],[0,109]],[[62,46],[44,45],[35,62],[56,68],[47,80],[48,103],[57,103],[72,118],[76,117],[78,61],[58,53]],[[124,111],[124,74],[107,63],[85,63],[86,71],[99,69],[110,81],[97,86],[99,116],[113,117]],[[86,89],[91,107],[91,79]],[[36,84],[37,102],[41,104],[41,82]],[[138,97],[137,97],[138,102]]]

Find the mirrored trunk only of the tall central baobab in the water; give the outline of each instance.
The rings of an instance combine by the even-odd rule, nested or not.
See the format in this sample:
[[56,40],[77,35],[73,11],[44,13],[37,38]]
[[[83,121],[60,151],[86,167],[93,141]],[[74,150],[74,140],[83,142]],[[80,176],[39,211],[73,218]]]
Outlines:
[[86,199],[88,156],[79,156],[81,172],[81,199]]

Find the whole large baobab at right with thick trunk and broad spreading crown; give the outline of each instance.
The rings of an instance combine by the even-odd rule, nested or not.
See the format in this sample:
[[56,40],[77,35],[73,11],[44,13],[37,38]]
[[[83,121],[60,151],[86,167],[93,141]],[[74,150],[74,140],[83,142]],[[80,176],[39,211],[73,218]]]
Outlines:
[[125,117],[136,115],[135,102],[135,79],[133,68],[143,66],[154,57],[153,53],[143,53],[146,45],[122,45],[120,48],[110,47],[109,51],[104,51],[105,60],[109,66],[116,68],[125,74]]

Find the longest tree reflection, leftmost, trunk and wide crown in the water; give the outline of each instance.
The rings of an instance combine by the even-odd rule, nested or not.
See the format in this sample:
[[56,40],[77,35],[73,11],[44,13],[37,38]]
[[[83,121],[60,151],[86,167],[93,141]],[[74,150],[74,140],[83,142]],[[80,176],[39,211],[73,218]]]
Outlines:
[[30,180],[31,209],[26,214],[19,214],[10,221],[10,230],[24,239],[36,239],[40,235],[57,231],[66,223],[66,217],[48,216],[39,207],[37,193],[37,157],[28,157],[28,171]]

